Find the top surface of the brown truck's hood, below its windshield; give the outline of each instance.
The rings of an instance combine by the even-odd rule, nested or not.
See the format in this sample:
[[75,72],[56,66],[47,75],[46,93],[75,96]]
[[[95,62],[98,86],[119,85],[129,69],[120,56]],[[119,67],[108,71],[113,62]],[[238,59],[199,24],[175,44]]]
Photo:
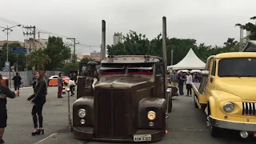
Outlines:
[[101,78],[95,88],[127,89],[133,86],[146,86],[149,83],[149,78],[143,78],[141,76],[110,76]]

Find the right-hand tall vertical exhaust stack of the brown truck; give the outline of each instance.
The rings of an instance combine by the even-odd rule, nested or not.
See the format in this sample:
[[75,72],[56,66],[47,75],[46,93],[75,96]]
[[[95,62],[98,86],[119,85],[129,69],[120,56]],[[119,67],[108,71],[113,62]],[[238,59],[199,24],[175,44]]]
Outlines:
[[[162,59],[164,64],[164,72],[167,71],[167,61],[166,61],[166,17],[162,17]],[[167,75],[165,74],[164,77],[164,90],[167,90]],[[164,93],[165,97],[167,97],[167,94]]]

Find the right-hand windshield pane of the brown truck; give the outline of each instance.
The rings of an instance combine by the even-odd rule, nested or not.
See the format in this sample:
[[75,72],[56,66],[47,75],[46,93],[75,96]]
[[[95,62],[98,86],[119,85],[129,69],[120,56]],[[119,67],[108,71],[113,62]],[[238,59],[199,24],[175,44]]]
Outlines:
[[143,74],[152,75],[153,74],[153,64],[152,63],[133,63],[127,66],[128,74]]

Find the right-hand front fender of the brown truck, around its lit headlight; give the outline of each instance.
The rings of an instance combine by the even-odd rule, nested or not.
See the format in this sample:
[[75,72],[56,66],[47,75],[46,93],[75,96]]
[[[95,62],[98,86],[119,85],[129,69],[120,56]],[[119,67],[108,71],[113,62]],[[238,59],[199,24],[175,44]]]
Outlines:
[[[166,99],[164,98],[143,98],[138,105],[138,128],[164,129],[166,109]],[[156,113],[156,118],[153,121],[147,118],[147,114],[151,110]],[[149,122],[154,122],[154,126],[149,126]]]

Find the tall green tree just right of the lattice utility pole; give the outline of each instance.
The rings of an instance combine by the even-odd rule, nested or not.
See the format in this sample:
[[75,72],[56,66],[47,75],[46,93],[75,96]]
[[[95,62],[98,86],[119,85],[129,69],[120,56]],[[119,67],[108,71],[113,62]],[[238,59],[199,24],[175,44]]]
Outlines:
[[70,47],[65,46],[60,37],[49,37],[47,48],[43,52],[52,60],[46,65],[46,70],[57,70],[58,67],[63,66],[65,60],[71,57]]

